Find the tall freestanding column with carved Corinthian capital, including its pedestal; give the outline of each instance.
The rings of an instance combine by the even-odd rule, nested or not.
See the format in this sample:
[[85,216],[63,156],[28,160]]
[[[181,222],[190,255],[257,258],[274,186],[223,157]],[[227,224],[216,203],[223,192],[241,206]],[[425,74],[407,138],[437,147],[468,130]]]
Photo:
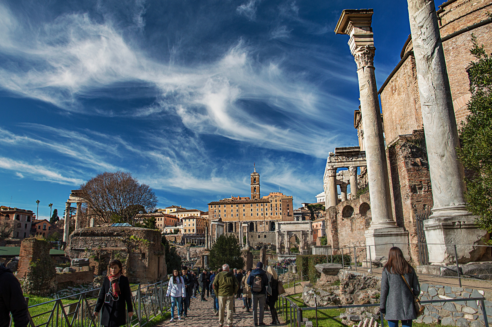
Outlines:
[[[408,232],[393,220],[390,183],[384,149],[383,127],[374,75],[374,34],[371,28],[372,9],[342,11],[335,32],[350,36],[348,45],[357,63],[362,124],[369,180],[371,224],[366,231],[366,244],[371,258],[387,258],[391,243],[400,244],[409,258]],[[389,245],[385,245],[390,243]],[[369,255],[368,255],[369,257]]]

